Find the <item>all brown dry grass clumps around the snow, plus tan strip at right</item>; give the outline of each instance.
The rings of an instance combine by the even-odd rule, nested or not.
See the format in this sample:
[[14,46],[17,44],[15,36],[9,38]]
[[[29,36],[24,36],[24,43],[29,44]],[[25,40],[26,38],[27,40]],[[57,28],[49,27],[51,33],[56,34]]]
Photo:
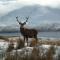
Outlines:
[[[10,41],[10,45],[7,49],[7,55],[5,60],[53,60],[53,56],[55,54],[55,48],[54,45],[60,46],[60,41],[58,40],[38,40],[37,44],[45,44],[45,45],[52,45],[48,51],[44,54],[44,50],[41,51],[39,48],[37,49],[36,46],[36,40],[32,39],[30,43],[30,47],[34,47],[32,50],[32,53],[30,56],[28,54],[24,57],[18,56],[18,55],[11,55],[10,52],[14,49],[14,44],[13,41]],[[24,41],[22,39],[17,39],[17,48],[16,49],[21,49],[24,47]],[[60,55],[58,55],[58,60],[60,59]]]

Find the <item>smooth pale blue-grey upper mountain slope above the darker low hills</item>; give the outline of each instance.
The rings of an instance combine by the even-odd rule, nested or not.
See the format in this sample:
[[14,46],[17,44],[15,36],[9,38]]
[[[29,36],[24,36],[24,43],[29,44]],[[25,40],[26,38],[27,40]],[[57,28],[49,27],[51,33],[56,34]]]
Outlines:
[[[31,6],[24,6],[20,9],[16,9],[5,16],[0,18],[0,24],[17,24],[16,23],[16,16],[26,17],[30,16],[28,22],[29,25],[39,25],[40,23],[53,23],[60,21],[60,9],[50,8],[50,7],[43,7],[40,5],[31,5]],[[25,20],[23,18],[19,18],[20,21]]]

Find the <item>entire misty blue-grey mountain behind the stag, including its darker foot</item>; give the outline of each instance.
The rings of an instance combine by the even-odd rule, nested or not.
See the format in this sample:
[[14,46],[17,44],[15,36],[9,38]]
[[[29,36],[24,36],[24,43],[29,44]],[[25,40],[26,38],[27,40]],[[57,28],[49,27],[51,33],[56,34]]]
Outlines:
[[0,17],[0,31],[19,30],[16,16],[19,16],[19,21],[25,21],[25,17],[30,16],[27,26],[36,29],[60,29],[60,9],[31,5],[16,9]]

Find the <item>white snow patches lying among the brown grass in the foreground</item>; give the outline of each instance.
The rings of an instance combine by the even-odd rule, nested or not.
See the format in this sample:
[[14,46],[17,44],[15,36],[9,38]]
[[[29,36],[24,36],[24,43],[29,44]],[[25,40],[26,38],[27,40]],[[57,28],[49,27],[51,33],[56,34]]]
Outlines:
[[[0,41],[0,55],[1,55],[1,52],[5,53],[6,49],[8,48],[8,45],[9,45],[9,42],[3,41],[3,40]],[[16,43],[15,43],[14,46],[16,47]],[[36,48],[39,48],[41,50],[41,52],[42,52],[42,49],[43,49],[44,53],[45,53],[50,47],[51,47],[51,45],[43,45],[42,44],[40,46],[37,46]],[[60,46],[54,45],[54,47],[56,48],[56,51],[55,51],[56,54],[54,56],[57,57],[58,54],[60,54]],[[33,48],[34,47],[27,47],[26,43],[25,43],[25,47],[22,48],[22,49],[18,49],[17,53],[20,56],[25,56],[27,53],[28,53],[28,55],[30,55],[32,53]],[[12,50],[11,53],[12,53],[12,55],[14,55],[16,53],[16,50]]]

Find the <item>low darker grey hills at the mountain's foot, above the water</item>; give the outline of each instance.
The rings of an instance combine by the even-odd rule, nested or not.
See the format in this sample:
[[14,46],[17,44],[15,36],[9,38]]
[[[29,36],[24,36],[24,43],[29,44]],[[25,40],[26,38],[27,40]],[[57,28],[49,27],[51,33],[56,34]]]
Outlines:
[[[31,29],[31,27],[25,26],[28,29]],[[0,26],[0,33],[12,33],[12,32],[20,32],[20,27],[17,25],[13,25],[13,26],[5,26],[5,27],[1,27]],[[39,32],[50,32],[50,31],[60,31],[60,24],[45,24],[45,25],[39,25],[36,27],[33,27],[34,29],[36,29]]]

